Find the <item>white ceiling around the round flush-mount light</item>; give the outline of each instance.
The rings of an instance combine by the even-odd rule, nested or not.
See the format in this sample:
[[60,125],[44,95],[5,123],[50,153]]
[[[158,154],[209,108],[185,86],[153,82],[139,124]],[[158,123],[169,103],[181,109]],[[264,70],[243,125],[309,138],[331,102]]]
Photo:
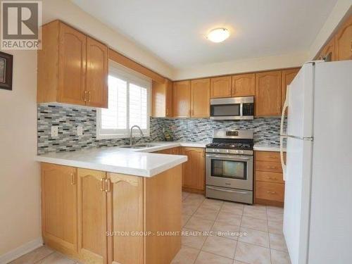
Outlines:
[[[337,0],[71,0],[174,68],[308,51]],[[205,35],[227,27],[220,44]]]

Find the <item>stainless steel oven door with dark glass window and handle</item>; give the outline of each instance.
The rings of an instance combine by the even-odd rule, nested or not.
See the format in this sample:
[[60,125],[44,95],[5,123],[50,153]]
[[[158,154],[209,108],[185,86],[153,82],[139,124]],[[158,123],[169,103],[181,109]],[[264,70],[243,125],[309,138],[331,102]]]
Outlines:
[[206,184],[253,190],[253,156],[207,153]]

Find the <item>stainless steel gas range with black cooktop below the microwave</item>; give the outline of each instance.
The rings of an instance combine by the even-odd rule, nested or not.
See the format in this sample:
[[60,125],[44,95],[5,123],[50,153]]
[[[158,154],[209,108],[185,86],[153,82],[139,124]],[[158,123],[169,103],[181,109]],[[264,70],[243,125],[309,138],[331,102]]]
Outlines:
[[214,130],[206,145],[206,197],[253,203],[253,130]]

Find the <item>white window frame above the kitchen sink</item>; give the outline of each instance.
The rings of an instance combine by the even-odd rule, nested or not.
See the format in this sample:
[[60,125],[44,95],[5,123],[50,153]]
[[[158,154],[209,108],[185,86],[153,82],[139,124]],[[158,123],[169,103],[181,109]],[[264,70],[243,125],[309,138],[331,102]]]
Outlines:
[[[146,129],[142,129],[144,137],[150,137],[151,118],[151,79],[135,72],[123,65],[109,61],[108,75],[117,77],[127,82],[127,128],[126,129],[102,129],[101,108],[96,108],[96,139],[125,139],[130,137],[130,83],[146,87]],[[139,130],[133,130],[133,136],[140,136]]]

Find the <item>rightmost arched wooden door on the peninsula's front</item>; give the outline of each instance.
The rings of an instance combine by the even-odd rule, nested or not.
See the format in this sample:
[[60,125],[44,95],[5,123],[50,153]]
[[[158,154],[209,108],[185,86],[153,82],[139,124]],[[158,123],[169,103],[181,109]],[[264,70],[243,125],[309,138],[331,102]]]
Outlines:
[[[108,263],[142,264],[143,232],[143,178],[108,173]],[[120,234],[119,234],[120,232]]]

